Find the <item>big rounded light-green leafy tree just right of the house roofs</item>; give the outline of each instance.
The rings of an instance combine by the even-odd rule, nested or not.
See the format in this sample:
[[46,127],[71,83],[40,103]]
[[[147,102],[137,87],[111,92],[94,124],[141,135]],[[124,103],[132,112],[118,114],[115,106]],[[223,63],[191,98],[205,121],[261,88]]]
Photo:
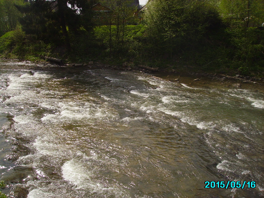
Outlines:
[[220,24],[216,8],[199,0],[155,0],[144,17],[152,48],[157,54],[170,56],[200,45]]

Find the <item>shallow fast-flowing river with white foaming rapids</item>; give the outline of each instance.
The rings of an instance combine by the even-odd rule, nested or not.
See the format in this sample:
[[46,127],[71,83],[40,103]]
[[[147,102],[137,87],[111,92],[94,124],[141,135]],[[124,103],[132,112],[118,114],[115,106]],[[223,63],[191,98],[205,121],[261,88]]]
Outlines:
[[[28,198],[263,197],[263,86],[192,79],[0,70],[2,191]],[[205,188],[205,181],[256,187]]]

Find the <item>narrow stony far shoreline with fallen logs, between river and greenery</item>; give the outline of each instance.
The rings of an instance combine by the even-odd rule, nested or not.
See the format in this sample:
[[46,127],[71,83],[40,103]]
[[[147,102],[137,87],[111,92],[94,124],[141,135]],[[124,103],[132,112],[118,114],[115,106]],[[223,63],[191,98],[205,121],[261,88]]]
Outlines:
[[[13,61],[17,61],[20,64],[11,64]],[[253,83],[263,86],[264,78],[259,77],[249,77],[249,76],[241,76],[236,74],[235,76],[230,76],[228,74],[223,73],[197,73],[192,71],[192,67],[185,67],[185,70],[182,68],[170,69],[165,68],[163,70],[159,70],[158,72],[152,72],[146,69],[139,68],[133,64],[124,63],[120,65],[110,65],[104,64],[101,62],[93,62],[92,64],[82,63],[69,63],[69,64],[54,64],[51,62],[47,62],[45,60],[31,62],[29,60],[17,60],[17,59],[3,59],[1,60],[0,69],[27,69],[27,70],[40,70],[40,71],[73,71],[73,72],[81,72],[85,69],[114,69],[114,70],[128,70],[131,72],[143,72],[146,74],[151,74],[152,76],[161,77],[166,80],[179,82],[180,77],[190,77],[190,81],[204,81],[204,80],[216,80],[220,82],[228,82],[237,84],[236,86],[241,86],[243,83]],[[6,64],[3,64],[5,63]],[[79,66],[74,66],[79,65]],[[191,80],[191,78],[193,78]],[[238,85],[240,84],[240,85]]]

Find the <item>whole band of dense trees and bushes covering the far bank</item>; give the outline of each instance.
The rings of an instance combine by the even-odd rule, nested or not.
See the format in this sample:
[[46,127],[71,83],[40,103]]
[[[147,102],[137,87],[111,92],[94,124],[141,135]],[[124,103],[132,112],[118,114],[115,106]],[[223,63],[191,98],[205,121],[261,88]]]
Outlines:
[[[264,0],[0,0],[2,57],[103,60],[263,76]],[[107,9],[106,9],[107,8]],[[2,33],[2,34],[3,34]]]

